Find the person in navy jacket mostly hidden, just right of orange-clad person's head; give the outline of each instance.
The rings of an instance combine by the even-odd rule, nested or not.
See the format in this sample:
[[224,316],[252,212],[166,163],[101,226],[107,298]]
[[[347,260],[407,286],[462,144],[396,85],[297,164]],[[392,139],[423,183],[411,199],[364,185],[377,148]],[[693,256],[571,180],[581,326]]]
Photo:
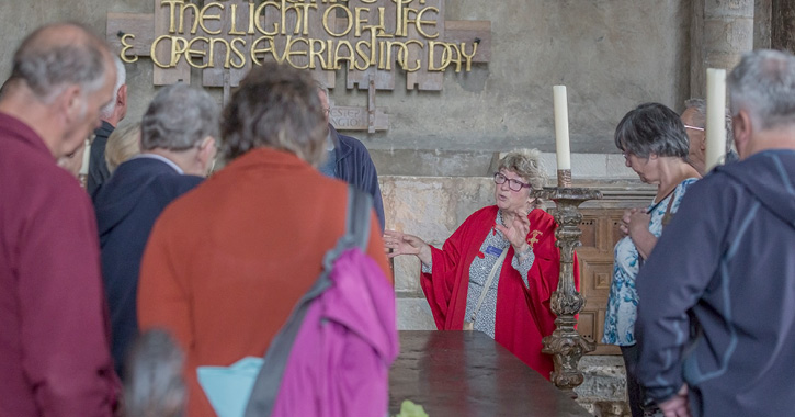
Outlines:
[[381,229],[384,230],[384,201],[381,196],[378,185],[378,172],[370,158],[367,148],[359,139],[341,135],[330,123],[331,104],[329,101],[329,89],[317,83],[320,104],[323,106],[323,116],[328,124],[329,132],[326,137],[326,162],[318,169],[331,178],[339,178],[342,181],[353,184],[357,189],[370,193],[373,196],[373,208],[378,216]]

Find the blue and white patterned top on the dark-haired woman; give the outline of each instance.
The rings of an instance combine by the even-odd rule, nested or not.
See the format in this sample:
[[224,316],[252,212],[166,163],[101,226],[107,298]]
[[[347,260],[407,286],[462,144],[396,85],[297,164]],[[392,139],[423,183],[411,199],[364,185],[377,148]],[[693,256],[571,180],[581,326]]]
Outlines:
[[[688,187],[694,183],[696,178],[689,178],[682,181],[674,191],[659,203],[651,203],[646,210],[651,215],[649,232],[655,237],[662,234],[662,218],[671,203],[671,214],[679,210]],[[607,311],[604,315],[603,343],[632,346],[635,345],[635,318],[637,317],[638,294],[635,291],[635,278],[640,269],[640,256],[629,236],[615,244],[613,262],[613,282],[610,286],[610,298],[607,298]]]

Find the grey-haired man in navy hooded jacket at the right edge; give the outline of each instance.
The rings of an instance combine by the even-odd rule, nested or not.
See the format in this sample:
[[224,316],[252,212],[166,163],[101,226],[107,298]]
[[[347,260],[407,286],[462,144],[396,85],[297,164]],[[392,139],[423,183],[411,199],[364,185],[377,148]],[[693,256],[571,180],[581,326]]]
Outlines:
[[637,279],[637,377],[666,416],[795,407],[795,57],[728,78],[740,161],[693,184]]

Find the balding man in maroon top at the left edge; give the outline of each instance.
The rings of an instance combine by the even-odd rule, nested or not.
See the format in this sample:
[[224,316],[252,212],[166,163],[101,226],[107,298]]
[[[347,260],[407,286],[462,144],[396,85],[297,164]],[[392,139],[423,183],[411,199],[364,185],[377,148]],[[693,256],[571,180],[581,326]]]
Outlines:
[[0,415],[112,416],[91,202],[56,160],[83,146],[112,97],[107,45],[71,23],[43,26],[13,57],[0,99]]

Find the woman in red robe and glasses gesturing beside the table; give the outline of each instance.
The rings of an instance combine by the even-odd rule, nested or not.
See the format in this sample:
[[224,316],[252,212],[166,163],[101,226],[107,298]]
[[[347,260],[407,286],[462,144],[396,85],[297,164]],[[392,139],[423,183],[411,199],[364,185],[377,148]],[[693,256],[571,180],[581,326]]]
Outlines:
[[[390,258],[414,255],[422,262],[420,283],[440,330],[472,324],[548,380],[553,359],[541,350],[542,339],[555,330],[549,297],[557,290],[560,251],[555,221],[531,196],[545,180],[538,155],[513,151],[502,158],[495,173],[497,204],[472,214],[442,249],[395,230],[386,230],[384,243]],[[575,283],[579,289],[577,261]]]

